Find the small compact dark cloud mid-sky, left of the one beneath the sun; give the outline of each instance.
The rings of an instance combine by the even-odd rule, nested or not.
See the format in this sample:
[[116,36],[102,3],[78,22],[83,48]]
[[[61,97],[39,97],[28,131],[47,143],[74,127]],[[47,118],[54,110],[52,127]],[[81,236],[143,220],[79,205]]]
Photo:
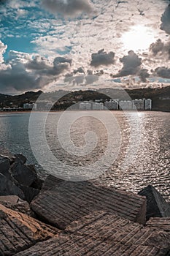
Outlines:
[[93,67],[98,67],[100,65],[110,65],[115,63],[115,53],[110,51],[105,52],[104,49],[98,50],[97,53],[92,53],[90,65]]

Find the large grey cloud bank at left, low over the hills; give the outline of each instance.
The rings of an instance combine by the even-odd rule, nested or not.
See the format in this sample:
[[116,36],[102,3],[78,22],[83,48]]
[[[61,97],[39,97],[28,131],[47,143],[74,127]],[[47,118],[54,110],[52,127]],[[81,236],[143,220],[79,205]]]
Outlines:
[[68,64],[72,63],[71,59],[60,57],[56,57],[53,64],[50,64],[47,59],[39,56],[34,59],[27,59],[27,57],[21,59],[17,57],[17,53],[14,55],[15,58],[9,59],[7,69],[0,70],[1,91],[42,89],[47,83],[53,82],[58,75],[68,69]]

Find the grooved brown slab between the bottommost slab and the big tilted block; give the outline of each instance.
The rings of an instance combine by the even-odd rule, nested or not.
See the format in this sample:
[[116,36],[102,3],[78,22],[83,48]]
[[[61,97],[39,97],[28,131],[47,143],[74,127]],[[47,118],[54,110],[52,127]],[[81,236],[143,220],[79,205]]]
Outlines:
[[95,211],[72,222],[64,232],[67,235],[87,236],[107,243],[139,244],[170,249],[170,233],[152,230],[128,219],[104,211]]

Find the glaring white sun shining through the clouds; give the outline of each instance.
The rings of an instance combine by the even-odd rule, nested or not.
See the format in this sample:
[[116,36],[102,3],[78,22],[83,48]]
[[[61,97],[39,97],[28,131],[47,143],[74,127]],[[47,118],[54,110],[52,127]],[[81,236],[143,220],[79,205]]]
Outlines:
[[121,37],[124,50],[147,50],[150,44],[155,41],[153,29],[144,25],[132,26],[131,29]]

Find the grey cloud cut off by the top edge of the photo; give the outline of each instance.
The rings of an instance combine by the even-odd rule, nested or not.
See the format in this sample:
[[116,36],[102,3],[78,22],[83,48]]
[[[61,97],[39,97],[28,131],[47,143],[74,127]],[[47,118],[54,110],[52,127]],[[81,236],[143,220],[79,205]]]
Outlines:
[[88,0],[42,0],[42,5],[52,13],[76,15],[77,12],[90,12]]

